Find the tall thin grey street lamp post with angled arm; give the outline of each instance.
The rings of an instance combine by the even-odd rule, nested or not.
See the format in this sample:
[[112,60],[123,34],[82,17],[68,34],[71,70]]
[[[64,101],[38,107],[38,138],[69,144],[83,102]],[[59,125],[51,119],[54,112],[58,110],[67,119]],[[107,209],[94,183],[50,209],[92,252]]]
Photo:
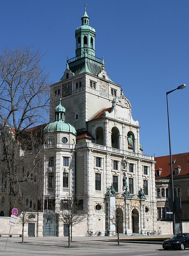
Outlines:
[[[166,93],[166,96],[175,90],[184,89],[186,85],[180,85],[176,89]],[[167,120],[168,120],[168,133],[169,133],[169,154],[170,154],[170,165],[171,165],[171,194],[172,194],[172,229],[173,235],[175,234],[175,209],[174,209],[174,185],[173,185],[173,173],[172,173],[172,152],[171,152],[171,137],[170,137],[170,126],[169,126],[169,107],[167,97]]]

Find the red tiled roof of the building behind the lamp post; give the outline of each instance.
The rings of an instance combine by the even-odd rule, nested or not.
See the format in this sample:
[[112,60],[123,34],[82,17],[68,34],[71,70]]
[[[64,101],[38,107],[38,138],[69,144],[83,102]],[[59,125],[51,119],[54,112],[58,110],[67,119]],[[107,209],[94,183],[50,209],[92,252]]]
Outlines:
[[[160,176],[158,176],[158,178],[170,177],[170,156],[168,155],[155,157],[155,161],[155,171],[162,169],[162,173],[160,174]],[[175,168],[181,168],[179,174],[174,173]],[[189,152],[172,155],[172,171],[174,177],[189,175]]]

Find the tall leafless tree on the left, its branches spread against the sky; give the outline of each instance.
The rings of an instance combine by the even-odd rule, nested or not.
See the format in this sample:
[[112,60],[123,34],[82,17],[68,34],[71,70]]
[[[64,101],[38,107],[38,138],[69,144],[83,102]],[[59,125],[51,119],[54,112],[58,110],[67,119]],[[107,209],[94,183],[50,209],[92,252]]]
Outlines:
[[[0,170],[9,185],[9,209],[13,200],[22,196],[17,175],[21,157],[26,151],[34,153],[38,146],[32,133],[32,143],[26,135],[34,125],[46,121],[43,117],[47,116],[44,112],[48,110],[49,83],[48,73],[40,66],[42,57],[32,47],[5,47],[0,55],[0,133],[4,156]],[[33,154],[30,173],[38,164],[39,152]]]

